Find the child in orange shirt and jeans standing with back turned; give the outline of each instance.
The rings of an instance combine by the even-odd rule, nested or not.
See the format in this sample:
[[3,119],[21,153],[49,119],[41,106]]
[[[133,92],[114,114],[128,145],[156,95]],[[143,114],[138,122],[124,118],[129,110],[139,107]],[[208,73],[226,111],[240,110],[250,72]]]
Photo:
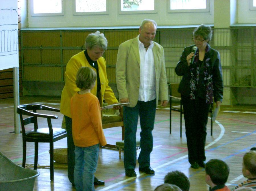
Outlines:
[[99,100],[91,94],[96,73],[90,67],[81,67],[76,76],[80,88],[71,98],[72,135],[75,144],[74,182],[77,191],[95,190],[94,173],[97,168],[99,144],[106,145],[101,123]]

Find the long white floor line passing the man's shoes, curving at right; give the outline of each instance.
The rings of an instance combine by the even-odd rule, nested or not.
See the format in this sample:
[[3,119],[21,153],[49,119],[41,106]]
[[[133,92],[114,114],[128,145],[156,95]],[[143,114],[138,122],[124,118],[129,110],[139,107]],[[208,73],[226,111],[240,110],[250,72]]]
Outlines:
[[[214,143],[216,143],[217,141],[219,141],[219,140],[222,138],[222,136],[224,135],[224,132],[225,132],[224,126],[223,126],[220,122],[218,122],[218,121],[215,121],[215,122],[216,122],[216,124],[218,124],[218,126],[220,127],[220,130],[221,130],[220,135],[217,137],[217,139],[215,139],[214,141],[212,141],[210,144],[206,145],[204,148],[208,148],[208,147],[212,146]],[[164,167],[164,166],[167,166],[167,165],[169,165],[169,164],[171,164],[171,163],[177,162],[177,161],[182,160],[182,159],[187,158],[187,157],[188,157],[188,155],[181,156],[180,158],[177,158],[177,159],[174,159],[174,160],[172,160],[172,161],[169,161],[169,162],[167,162],[167,163],[165,163],[165,164],[162,164],[162,165],[160,165],[160,166],[158,166],[158,167],[156,167],[156,168],[154,168],[154,169],[156,170],[156,169],[162,168],[162,167]],[[145,173],[140,173],[140,175],[138,175],[137,177],[140,177],[140,176],[142,176],[142,175],[144,175],[144,174],[145,174]],[[117,183],[115,183],[115,184],[111,184],[110,186],[107,186],[107,187],[105,187],[105,188],[103,188],[103,189],[101,189],[101,190],[99,190],[99,191],[109,190],[110,188],[114,188],[115,186],[118,186],[118,185],[120,185],[120,184],[122,184],[122,183],[128,182],[128,181],[130,181],[130,180],[132,180],[132,179],[135,179],[135,178],[136,178],[136,177],[130,177],[130,178],[128,178],[128,179],[125,179],[125,180],[123,180],[123,181],[117,182]]]

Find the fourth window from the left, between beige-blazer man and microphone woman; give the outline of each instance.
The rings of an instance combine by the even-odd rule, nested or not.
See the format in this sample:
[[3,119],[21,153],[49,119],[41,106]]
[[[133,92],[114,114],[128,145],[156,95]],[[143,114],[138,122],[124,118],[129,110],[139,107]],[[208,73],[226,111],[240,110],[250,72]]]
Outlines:
[[169,0],[169,12],[208,12],[209,0]]

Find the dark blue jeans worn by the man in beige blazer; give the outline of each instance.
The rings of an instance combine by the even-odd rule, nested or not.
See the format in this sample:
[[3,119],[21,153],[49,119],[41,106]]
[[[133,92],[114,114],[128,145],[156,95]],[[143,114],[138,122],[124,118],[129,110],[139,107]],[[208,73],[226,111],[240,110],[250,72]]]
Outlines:
[[138,101],[135,107],[124,106],[124,168],[136,167],[136,131],[138,116],[140,116],[140,155],[139,167],[150,166],[150,153],[153,150],[152,130],[155,122],[156,99],[152,101]]

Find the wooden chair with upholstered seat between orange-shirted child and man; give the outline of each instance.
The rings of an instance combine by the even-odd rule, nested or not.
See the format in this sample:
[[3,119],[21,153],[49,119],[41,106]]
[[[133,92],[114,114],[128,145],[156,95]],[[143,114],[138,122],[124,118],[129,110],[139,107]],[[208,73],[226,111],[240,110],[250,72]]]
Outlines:
[[[102,128],[112,128],[121,127],[122,128],[122,140],[124,140],[124,118],[123,118],[123,108],[119,109],[119,116],[102,117]],[[107,144],[104,147],[116,149],[116,145]]]

